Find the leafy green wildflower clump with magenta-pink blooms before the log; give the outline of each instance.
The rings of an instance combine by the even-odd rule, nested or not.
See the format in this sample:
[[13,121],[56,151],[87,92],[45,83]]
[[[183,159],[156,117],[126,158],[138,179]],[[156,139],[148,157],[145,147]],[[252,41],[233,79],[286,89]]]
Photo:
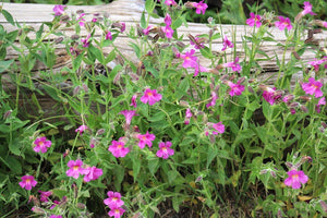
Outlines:
[[[165,17],[154,25],[157,5]],[[21,120],[19,97],[10,104],[1,96],[1,170],[10,174],[0,184],[7,204],[17,207],[25,197],[31,213],[43,217],[156,217],[162,204],[175,213],[187,206],[202,217],[219,217],[232,198],[245,216],[326,215],[327,53],[315,48],[318,62],[301,60],[310,48],[301,35],[303,20],[314,15],[314,7],[306,2],[294,21],[252,12],[246,24],[253,32],[242,36],[244,56],[213,19],[201,36],[179,33],[187,10],[206,13],[204,1],[146,0],[135,26],[106,14],[66,14],[66,8],[53,8],[53,21],[35,33],[33,44],[12,45],[27,40],[28,29],[17,23],[11,22],[22,33],[3,34],[19,53],[20,65],[5,68],[17,95],[29,88],[60,107],[50,118],[39,110],[38,120]],[[2,14],[12,21],[5,10]],[[65,36],[63,26],[74,35]],[[259,49],[277,41],[269,26],[287,37],[279,45],[281,58]],[[129,37],[136,61],[117,46],[121,35]],[[60,73],[53,72],[49,36],[59,37],[71,59]],[[214,40],[221,44],[217,56]],[[290,48],[300,58],[287,62]],[[226,52],[234,52],[232,60]],[[258,55],[277,62],[272,84],[257,77],[264,71]],[[35,78],[25,59],[41,61],[49,72]],[[291,87],[299,72],[301,82]],[[10,197],[13,187],[16,198]]]

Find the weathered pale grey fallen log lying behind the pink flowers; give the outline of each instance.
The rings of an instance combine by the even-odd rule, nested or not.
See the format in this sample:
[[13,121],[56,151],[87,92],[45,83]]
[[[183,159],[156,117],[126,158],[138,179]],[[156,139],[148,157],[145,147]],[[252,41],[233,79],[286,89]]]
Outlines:
[[[32,26],[35,29],[38,29],[40,24],[43,22],[51,22],[53,20],[53,5],[51,4],[22,4],[22,3],[3,3],[2,8],[9,11],[15,21],[20,22],[21,24],[25,24],[27,26]],[[106,5],[83,5],[83,7],[74,7],[74,5],[69,5],[66,13],[75,13],[77,10],[84,10],[86,13],[86,21],[90,21],[93,17],[93,14],[100,13],[109,13],[110,19],[112,21],[120,21],[124,22],[126,24],[126,29],[130,29],[131,26],[136,26],[136,24],[140,23],[141,14],[145,10],[144,1],[143,0],[117,0],[113,1],[112,3],[106,4]],[[150,24],[152,25],[158,25],[164,22],[164,19],[150,19]],[[10,25],[2,15],[0,15],[0,24],[4,26],[4,28],[8,32],[13,31],[15,27]],[[243,36],[250,36],[253,33],[253,27],[250,26],[244,26],[244,25],[218,25],[218,29],[222,35],[227,35],[230,39],[232,39],[235,44],[235,49],[237,49],[237,56],[240,57],[240,60],[242,61],[244,59],[244,52],[243,52]],[[62,32],[66,36],[73,35],[73,29],[72,28],[63,28]],[[179,35],[183,35],[183,43],[189,44],[190,39],[187,38],[187,34],[192,35],[201,35],[201,34],[207,34],[209,32],[209,27],[207,27],[205,24],[195,24],[195,23],[189,23],[189,27],[181,26],[179,29]],[[279,31],[276,27],[270,27],[269,33],[272,35],[272,38],[276,39],[277,43],[275,41],[265,41],[261,46],[261,50],[266,52],[271,60],[269,61],[261,61],[259,64],[265,73],[262,73],[259,75],[259,80],[266,80],[267,77],[272,77],[270,80],[270,84],[274,84],[276,81],[276,72],[279,71],[278,65],[276,64],[276,59],[275,56],[278,56],[279,59],[282,58],[284,55],[284,60],[286,62],[290,61],[291,59],[291,52],[292,50],[289,49],[283,53],[283,49],[278,47],[277,44],[286,43],[286,36],[282,31]],[[323,31],[322,33],[315,34],[314,35],[314,40],[315,44],[318,44],[319,46],[326,46],[327,43],[327,32]],[[85,37],[87,35],[86,31],[82,31],[82,37]],[[95,37],[100,37],[102,33],[97,33]],[[306,38],[307,33],[303,33],[303,40]],[[34,35],[31,35],[31,37],[35,37]],[[56,38],[56,36],[50,36],[52,39]],[[132,50],[131,47],[129,47],[129,41],[131,39],[126,37],[125,34],[119,35],[117,38],[114,45],[118,47],[118,49],[125,56],[128,57],[131,61],[134,61],[137,63],[140,60],[137,60],[134,51]],[[222,48],[222,39],[216,39],[213,43],[213,50],[217,53],[221,52]],[[104,51],[106,53],[109,53],[111,51],[111,47],[106,47],[104,48]],[[58,55],[57,63],[53,68],[55,72],[59,72],[63,66],[70,66],[71,65],[71,58],[66,55],[65,48],[63,45],[57,45],[56,48],[56,53]],[[199,52],[197,53],[199,55]],[[233,49],[228,49],[226,51],[226,57],[227,61],[233,60],[235,53]],[[17,53],[13,49],[8,50],[8,56],[7,59],[15,59],[17,57]],[[202,56],[199,57],[199,62],[202,65],[207,66],[207,68],[213,68],[210,66],[210,61],[203,58]],[[314,60],[315,58],[315,51],[314,49],[307,49],[305,53],[301,57],[302,61],[304,63]],[[37,76],[37,71],[39,70],[46,70],[46,66],[37,62],[34,71],[35,71],[35,76]],[[299,72],[302,74],[302,72]],[[275,77],[274,77],[275,76]],[[3,75],[2,80],[8,81],[9,75]],[[294,76],[294,82],[301,77],[301,75]],[[14,89],[14,86],[10,86],[10,84],[7,84],[7,88],[9,89]]]

